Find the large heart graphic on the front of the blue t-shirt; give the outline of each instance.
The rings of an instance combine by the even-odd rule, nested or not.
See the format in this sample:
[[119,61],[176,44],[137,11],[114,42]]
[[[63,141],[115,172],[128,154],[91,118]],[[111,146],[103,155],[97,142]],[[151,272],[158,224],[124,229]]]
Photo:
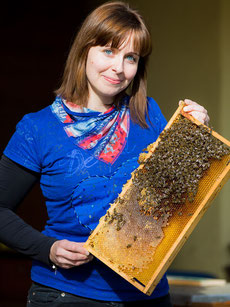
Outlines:
[[81,233],[89,235],[96,228],[137,166],[137,157],[133,157],[109,175],[88,176],[78,183],[71,196],[71,205]]

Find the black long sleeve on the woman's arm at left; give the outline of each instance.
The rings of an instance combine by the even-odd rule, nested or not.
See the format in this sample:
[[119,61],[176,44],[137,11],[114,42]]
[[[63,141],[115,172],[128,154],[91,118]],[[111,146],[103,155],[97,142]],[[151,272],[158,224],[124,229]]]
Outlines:
[[2,156],[0,160],[0,241],[33,259],[50,264],[50,247],[57,239],[47,237],[32,228],[14,212],[39,178],[39,173],[30,171],[6,156]]

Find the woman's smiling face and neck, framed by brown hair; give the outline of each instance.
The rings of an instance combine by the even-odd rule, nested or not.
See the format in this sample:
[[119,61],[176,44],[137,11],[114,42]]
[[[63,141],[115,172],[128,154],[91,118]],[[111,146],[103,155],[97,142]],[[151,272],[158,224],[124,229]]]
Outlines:
[[139,55],[133,48],[133,36],[127,36],[119,49],[95,46],[89,49],[86,62],[88,108],[108,109],[114,97],[126,89],[136,75]]

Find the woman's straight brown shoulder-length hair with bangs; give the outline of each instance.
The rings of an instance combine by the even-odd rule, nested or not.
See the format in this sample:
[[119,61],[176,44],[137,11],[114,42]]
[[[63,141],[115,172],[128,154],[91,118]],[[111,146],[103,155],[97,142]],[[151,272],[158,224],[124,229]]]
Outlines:
[[[129,86],[130,114],[134,122],[142,127],[148,127],[145,120],[146,64],[152,49],[151,36],[142,16],[127,3],[107,2],[88,15],[73,42],[61,86],[55,93],[78,105],[86,105],[89,94],[86,76],[89,49],[107,44],[111,44],[112,48],[119,48],[130,33],[134,34],[134,50],[140,55],[137,73]],[[116,105],[124,94],[125,91],[115,97]]]

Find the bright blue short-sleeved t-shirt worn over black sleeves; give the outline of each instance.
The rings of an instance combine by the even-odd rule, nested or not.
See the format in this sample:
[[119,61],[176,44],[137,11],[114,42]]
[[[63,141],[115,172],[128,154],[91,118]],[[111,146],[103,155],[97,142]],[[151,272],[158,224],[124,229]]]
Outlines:
[[[96,155],[97,149],[87,149],[89,144],[84,140],[88,138],[83,141],[78,138],[79,126],[77,132],[73,132],[78,137],[68,128],[76,118],[80,121],[84,116],[87,116],[84,125],[88,125],[89,119],[92,125],[98,112],[75,113],[66,106],[57,112],[52,104],[25,115],[17,124],[4,154],[41,174],[40,186],[48,213],[45,235],[75,242],[88,239],[123,184],[130,179],[131,172],[138,167],[141,151],[157,139],[166,125],[156,102],[152,98],[148,101],[149,118],[146,116],[146,120],[149,128],[144,129],[132,120],[126,121],[121,131],[121,134],[126,131],[123,145],[112,163],[106,161],[106,156]],[[60,99],[57,98],[56,103],[60,104]],[[114,110],[106,116],[112,116],[112,112]],[[63,120],[66,113],[68,118]],[[129,118],[129,111],[125,114]],[[164,276],[153,294],[146,296],[96,258],[72,269],[58,268],[57,272],[42,262],[33,261],[31,278],[49,287],[105,301],[152,299],[166,295],[169,290]]]

